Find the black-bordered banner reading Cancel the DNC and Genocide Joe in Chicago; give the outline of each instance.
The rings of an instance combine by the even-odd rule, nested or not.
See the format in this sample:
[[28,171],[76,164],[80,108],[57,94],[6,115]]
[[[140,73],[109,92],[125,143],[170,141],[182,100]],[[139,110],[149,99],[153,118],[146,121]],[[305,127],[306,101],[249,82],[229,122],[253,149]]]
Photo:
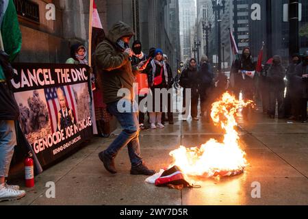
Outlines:
[[13,68],[21,129],[42,166],[92,137],[87,65],[22,63]]

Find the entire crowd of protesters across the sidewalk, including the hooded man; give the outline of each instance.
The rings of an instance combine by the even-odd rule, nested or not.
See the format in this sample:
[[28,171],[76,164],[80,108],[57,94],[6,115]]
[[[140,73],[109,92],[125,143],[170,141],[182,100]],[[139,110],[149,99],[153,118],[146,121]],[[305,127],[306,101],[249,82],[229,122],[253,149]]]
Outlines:
[[[163,96],[162,92],[157,93],[156,90],[172,88],[175,79],[172,77],[172,69],[168,64],[168,56],[162,49],[153,47],[149,49],[149,54],[146,54],[142,51],[140,40],[135,40],[130,48],[129,42],[133,35],[131,27],[119,21],[111,27],[107,36],[94,39],[93,53],[88,54],[91,55],[93,61],[90,73],[93,75],[94,112],[99,136],[110,136],[112,116],[118,120],[123,129],[112,144],[99,153],[99,159],[107,171],[116,174],[115,157],[120,149],[127,146],[131,161],[131,175],[153,175],[155,170],[148,168],[142,159],[139,133],[142,129],[164,129],[167,121],[170,125],[174,124],[172,93],[168,93],[168,101],[164,105],[162,100],[166,96]],[[6,52],[15,56],[18,53],[18,51]],[[88,64],[87,50],[83,44],[73,44],[70,56],[66,64]],[[3,106],[7,106],[5,109],[10,109],[5,112],[1,111],[0,114],[1,201],[4,198],[21,198],[25,196],[25,191],[19,190],[16,185],[5,183],[16,144],[14,120],[18,117],[18,106],[14,104],[12,92],[9,91],[10,88],[6,83],[12,77],[12,67],[7,62],[8,58],[5,53],[1,52],[0,57],[0,89],[3,91],[1,95],[5,94],[0,100]],[[229,90],[235,96],[240,96],[242,93],[243,99],[247,100],[255,100],[256,96],[261,96],[263,112],[270,118],[275,118],[278,114],[278,118],[289,118],[307,123],[308,55],[294,54],[292,63],[287,69],[282,66],[281,57],[274,55],[262,66],[261,72],[255,74],[256,62],[253,62],[251,49],[246,47],[231,67],[233,80],[231,86],[227,76],[223,73],[214,73],[206,55],[202,55],[200,61],[198,64],[198,60],[191,58],[179,77],[179,84],[183,88],[183,115],[191,114],[193,120],[201,117],[209,121],[211,103],[223,92]],[[259,83],[255,83],[256,78]],[[133,88],[136,81],[138,82],[137,99]],[[129,90],[129,95],[118,95],[118,91],[123,88]],[[286,92],[285,88],[287,88]],[[188,89],[191,98],[186,100],[185,91]],[[61,99],[62,90],[58,90],[57,93]],[[160,98],[157,98],[157,95],[160,95]],[[3,101],[4,98],[6,101]],[[139,107],[136,111],[135,103],[144,100],[151,100],[151,104],[148,101],[146,107]],[[198,115],[199,100],[200,115]],[[149,110],[149,105],[152,107],[151,110]],[[119,106],[129,110],[122,112]],[[244,118],[248,116],[249,111],[249,108],[242,111]],[[146,125],[146,116],[149,125]],[[70,109],[66,109],[65,103],[58,117],[58,129],[63,126],[64,122],[74,123],[75,121],[73,113]]]

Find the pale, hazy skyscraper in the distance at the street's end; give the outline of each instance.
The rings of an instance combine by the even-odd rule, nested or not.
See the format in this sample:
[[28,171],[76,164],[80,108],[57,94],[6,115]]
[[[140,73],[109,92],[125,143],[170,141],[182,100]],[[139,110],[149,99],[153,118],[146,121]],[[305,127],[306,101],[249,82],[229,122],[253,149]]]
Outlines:
[[194,0],[179,0],[181,60],[183,62],[192,57],[195,20],[196,5]]

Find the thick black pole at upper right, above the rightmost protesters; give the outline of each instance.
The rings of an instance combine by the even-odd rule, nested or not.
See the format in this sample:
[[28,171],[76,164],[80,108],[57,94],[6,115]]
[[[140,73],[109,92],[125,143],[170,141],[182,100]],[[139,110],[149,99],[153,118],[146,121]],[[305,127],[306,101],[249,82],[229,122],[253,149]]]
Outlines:
[[289,0],[289,21],[290,21],[290,40],[289,40],[289,57],[298,53],[300,49],[298,33],[298,0]]

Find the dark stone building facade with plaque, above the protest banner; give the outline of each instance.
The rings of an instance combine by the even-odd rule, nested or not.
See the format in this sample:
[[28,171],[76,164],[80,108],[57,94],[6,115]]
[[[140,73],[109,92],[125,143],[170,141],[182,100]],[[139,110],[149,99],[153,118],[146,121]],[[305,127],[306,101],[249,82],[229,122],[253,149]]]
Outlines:
[[[14,0],[23,38],[16,62],[64,63],[70,44],[88,43],[89,1]],[[55,5],[55,19],[47,20],[47,3]],[[107,25],[106,1],[96,1],[103,27]],[[39,42],[39,43],[38,43]]]

